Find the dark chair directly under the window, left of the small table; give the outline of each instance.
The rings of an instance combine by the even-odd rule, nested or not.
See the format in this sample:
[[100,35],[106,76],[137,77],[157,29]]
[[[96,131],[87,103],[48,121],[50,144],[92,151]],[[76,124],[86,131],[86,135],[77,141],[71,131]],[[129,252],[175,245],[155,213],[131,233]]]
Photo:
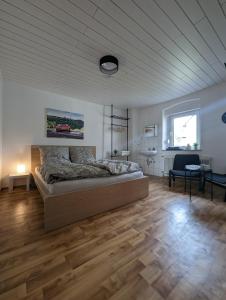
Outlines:
[[169,171],[169,187],[171,187],[172,179],[175,182],[176,177],[182,177],[185,179],[184,190],[186,191],[186,179],[199,180],[201,189],[201,172],[200,171],[186,171],[186,165],[200,165],[200,159],[198,154],[176,154],[173,162],[173,169]]

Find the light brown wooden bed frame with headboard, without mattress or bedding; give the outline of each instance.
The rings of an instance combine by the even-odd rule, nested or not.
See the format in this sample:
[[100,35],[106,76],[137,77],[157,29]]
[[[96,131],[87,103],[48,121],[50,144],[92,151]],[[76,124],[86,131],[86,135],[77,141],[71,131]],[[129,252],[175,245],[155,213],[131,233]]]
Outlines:
[[[38,147],[37,145],[31,146],[31,172],[44,201],[44,225],[46,230],[60,228],[75,221],[126,205],[148,195],[149,180],[146,176],[61,195],[49,194],[43,190],[38,180],[36,180],[35,168],[40,166]],[[96,147],[84,146],[84,148],[86,147],[91,148],[94,157],[96,157]]]

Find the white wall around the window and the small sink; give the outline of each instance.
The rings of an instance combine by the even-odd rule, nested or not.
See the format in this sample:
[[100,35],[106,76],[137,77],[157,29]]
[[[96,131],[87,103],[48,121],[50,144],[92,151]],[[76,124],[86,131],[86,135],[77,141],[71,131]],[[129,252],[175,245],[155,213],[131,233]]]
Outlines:
[[[213,158],[214,171],[226,173],[226,124],[221,120],[223,112],[226,111],[225,82],[186,97],[133,110],[133,159],[145,166],[147,173],[161,175],[162,155],[166,153],[166,151],[162,151],[163,110],[172,104],[191,99],[197,99],[198,106],[200,106],[202,151],[199,153]],[[144,127],[152,124],[158,125],[158,136],[143,138]],[[155,169],[154,172],[148,170],[145,159],[139,155],[141,150],[149,147],[155,147],[158,150],[158,155],[154,158],[154,167],[153,165],[150,166],[150,168]]]

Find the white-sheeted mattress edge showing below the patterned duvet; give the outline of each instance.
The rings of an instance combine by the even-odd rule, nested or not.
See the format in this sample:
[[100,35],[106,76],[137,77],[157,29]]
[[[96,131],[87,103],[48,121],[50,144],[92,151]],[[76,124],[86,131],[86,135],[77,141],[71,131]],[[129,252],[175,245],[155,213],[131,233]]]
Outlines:
[[121,183],[128,180],[134,180],[134,179],[142,178],[143,176],[144,175],[142,171],[137,171],[134,173],[122,174],[117,176],[67,180],[67,181],[56,182],[53,184],[48,184],[42,178],[42,175],[38,171],[38,168],[35,169],[35,181],[37,185],[50,195],[60,195],[69,192],[74,192],[74,191],[87,190],[87,189],[106,186],[114,183]]

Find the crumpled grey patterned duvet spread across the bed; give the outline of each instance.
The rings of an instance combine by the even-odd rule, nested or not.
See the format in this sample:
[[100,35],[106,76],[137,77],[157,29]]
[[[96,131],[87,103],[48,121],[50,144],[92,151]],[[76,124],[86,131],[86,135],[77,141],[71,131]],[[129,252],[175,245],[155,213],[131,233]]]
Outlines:
[[86,164],[72,163],[66,159],[50,158],[39,172],[47,183],[82,178],[107,177],[139,171],[137,163],[128,161],[94,160]]

